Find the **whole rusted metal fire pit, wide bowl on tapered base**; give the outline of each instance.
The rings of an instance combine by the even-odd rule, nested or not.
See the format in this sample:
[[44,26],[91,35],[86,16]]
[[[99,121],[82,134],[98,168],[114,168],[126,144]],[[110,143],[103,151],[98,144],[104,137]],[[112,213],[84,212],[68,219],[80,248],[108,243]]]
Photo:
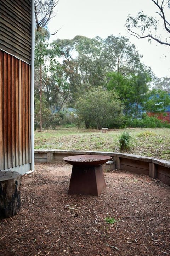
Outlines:
[[102,164],[111,159],[102,155],[64,157],[64,161],[73,165],[68,193],[99,196],[106,187]]

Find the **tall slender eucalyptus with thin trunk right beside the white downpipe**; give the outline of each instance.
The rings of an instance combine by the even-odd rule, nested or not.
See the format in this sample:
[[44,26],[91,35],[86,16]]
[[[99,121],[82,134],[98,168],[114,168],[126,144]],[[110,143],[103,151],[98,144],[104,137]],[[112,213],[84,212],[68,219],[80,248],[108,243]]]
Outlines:
[[[56,15],[55,7],[59,0],[35,0],[35,101],[39,102],[39,130],[42,131],[42,102],[45,88],[46,62],[49,55],[49,30],[48,23]],[[56,34],[57,31],[54,33]],[[39,95],[39,96],[38,96]],[[36,108],[37,110],[37,108]],[[44,115],[44,113],[43,113]],[[38,121],[39,120],[39,121]]]

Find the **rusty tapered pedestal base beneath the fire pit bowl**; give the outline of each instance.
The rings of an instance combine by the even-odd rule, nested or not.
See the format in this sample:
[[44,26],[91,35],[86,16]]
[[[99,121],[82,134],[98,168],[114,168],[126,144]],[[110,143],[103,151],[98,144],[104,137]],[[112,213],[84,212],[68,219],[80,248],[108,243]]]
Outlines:
[[105,188],[102,165],[73,166],[68,194],[99,196]]

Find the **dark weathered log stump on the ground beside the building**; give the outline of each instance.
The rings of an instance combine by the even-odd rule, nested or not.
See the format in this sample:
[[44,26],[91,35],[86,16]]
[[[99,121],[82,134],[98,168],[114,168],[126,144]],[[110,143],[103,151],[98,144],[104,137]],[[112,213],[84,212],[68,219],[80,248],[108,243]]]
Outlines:
[[0,218],[16,215],[21,209],[21,174],[16,171],[0,171]]

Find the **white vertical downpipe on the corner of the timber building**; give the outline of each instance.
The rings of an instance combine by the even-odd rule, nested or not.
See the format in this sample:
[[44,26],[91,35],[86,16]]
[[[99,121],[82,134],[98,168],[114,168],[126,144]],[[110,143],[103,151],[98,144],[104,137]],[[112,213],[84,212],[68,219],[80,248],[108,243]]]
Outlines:
[[35,18],[34,0],[31,8],[31,170],[34,171],[34,50],[35,50]]

